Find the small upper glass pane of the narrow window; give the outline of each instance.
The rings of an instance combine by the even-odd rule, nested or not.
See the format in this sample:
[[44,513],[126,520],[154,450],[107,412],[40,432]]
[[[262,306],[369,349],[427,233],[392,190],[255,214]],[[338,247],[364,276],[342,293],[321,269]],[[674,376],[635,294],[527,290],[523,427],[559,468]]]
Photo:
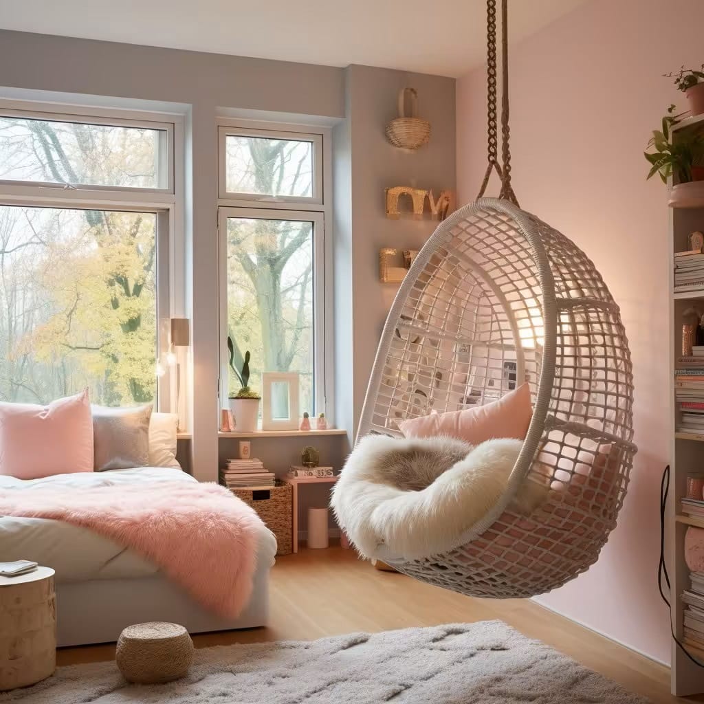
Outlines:
[[312,142],[230,134],[225,149],[228,192],[315,196]]

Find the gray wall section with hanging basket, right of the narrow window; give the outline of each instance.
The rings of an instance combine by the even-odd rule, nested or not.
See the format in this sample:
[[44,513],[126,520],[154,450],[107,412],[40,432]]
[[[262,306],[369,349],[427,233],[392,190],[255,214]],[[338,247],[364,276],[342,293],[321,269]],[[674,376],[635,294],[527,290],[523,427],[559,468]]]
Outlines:
[[[386,218],[384,189],[413,186],[433,189],[435,196],[455,189],[455,80],[359,65],[346,68],[345,77],[347,120],[333,132],[335,153],[351,155],[340,159],[335,172],[336,341],[341,349],[335,393],[338,425],[353,431],[386,313],[398,291],[398,284],[379,282],[379,249],[420,249],[437,225]],[[384,126],[398,115],[397,95],[404,86],[417,89],[418,114],[432,126],[429,143],[412,152],[392,146],[384,134]]]

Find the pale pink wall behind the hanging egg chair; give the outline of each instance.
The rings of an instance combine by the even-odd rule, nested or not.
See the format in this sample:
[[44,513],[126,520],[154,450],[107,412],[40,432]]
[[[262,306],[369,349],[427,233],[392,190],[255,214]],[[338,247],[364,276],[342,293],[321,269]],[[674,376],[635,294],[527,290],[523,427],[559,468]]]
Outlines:
[[[639,453],[619,526],[589,572],[539,601],[667,662],[655,572],[668,461],[668,213],[660,180],[645,180],[643,149],[667,106],[684,104],[660,76],[704,61],[703,26],[702,0],[592,0],[510,55],[515,191],[596,263],[621,306],[636,382]],[[460,203],[476,195],[486,163],[484,80],[482,68],[458,82]]]

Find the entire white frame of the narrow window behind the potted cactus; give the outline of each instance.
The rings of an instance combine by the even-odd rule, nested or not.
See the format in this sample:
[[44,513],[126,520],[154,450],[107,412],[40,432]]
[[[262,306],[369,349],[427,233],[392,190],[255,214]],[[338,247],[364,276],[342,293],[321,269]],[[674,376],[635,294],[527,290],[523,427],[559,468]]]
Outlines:
[[[315,350],[314,385],[316,413],[325,413],[334,427],[334,388],[332,386],[334,337],[332,306],[332,130],[320,125],[291,125],[258,120],[218,118],[218,243],[220,248],[220,406],[227,406],[227,218],[271,220],[310,220],[313,222],[313,340]],[[233,194],[225,190],[225,137],[300,139],[313,144],[315,198],[272,198]],[[270,370],[261,370],[263,372]],[[301,409],[301,413],[306,410]],[[310,409],[308,409],[310,410]]]

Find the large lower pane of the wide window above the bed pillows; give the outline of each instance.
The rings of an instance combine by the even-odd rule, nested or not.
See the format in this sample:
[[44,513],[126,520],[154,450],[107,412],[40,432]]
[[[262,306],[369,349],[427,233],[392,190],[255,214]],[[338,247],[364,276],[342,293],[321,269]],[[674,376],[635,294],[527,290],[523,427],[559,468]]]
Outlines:
[[0,398],[156,396],[156,214],[0,206]]

